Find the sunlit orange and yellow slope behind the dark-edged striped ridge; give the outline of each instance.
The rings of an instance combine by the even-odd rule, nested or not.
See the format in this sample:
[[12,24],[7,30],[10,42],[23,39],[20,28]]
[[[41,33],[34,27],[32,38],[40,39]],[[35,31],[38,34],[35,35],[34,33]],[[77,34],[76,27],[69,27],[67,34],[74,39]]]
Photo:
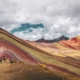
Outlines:
[[30,42],[29,44],[50,53],[51,55],[61,57],[72,57],[80,60],[80,37],[74,37],[69,40],[63,40],[55,43]]

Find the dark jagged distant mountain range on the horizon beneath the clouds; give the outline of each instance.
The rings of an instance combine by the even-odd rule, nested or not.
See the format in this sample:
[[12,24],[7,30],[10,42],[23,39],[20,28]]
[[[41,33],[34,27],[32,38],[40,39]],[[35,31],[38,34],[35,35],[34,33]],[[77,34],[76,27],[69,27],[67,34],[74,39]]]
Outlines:
[[68,39],[69,39],[68,37],[65,37],[64,35],[62,35],[61,37],[55,38],[53,40],[45,40],[44,38],[41,38],[41,39],[37,40],[36,42],[53,43],[53,42],[59,42],[61,40],[68,40]]

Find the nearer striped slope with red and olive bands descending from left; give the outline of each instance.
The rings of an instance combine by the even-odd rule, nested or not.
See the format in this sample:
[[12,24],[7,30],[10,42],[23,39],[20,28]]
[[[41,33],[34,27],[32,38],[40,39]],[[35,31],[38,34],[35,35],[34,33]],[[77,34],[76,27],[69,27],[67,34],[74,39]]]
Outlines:
[[[58,50],[56,47],[55,49]],[[0,29],[0,56],[20,60],[28,64],[41,63],[45,64],[48,68],[80,75],[79,61],[73,61],[73,64],[63,62],[61,59],[58,59],[59,57],[41,50],[2,29]]]

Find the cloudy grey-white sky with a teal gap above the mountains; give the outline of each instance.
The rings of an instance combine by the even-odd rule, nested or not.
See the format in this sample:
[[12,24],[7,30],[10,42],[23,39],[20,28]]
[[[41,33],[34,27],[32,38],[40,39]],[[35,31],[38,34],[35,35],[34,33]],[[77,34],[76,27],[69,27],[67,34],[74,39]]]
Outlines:
[[26,40],[80,35],[80,0],[0,0],[0,27]]

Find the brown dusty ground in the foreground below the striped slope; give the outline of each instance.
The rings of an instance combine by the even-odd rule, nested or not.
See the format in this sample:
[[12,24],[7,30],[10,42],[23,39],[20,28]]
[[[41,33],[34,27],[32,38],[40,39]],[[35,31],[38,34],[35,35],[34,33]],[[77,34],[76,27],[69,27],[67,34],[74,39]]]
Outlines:
[[0,80],[80,80],[62,72],[50,71],[40,65],[0,63]]

